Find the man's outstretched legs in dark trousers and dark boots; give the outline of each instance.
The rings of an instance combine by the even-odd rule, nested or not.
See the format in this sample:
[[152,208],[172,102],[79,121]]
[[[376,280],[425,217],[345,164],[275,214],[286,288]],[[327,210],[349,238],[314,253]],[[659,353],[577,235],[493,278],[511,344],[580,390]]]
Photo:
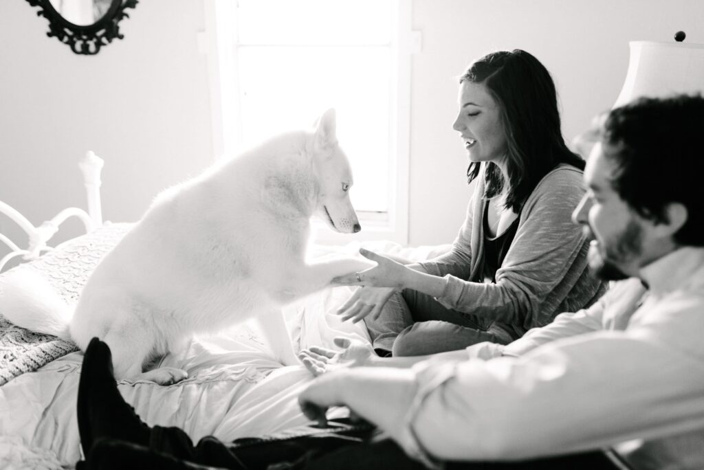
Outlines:
[[[110,348],[97,338],[89,344],[83,360],[79,384],[79,431],[87,469],[153,468],[199,469],[202,465],[226,469],[267,468],[268,464],[288,462],[289,468],[310,470],[334,469],[422,469],[396,443],[383,440],[361,443],[349,438],[316,438],[226,445],[215,438],[203,438],[194,446],[179,428],[150,428],[122,399],[112,375]],[[332,442],[329,442],[331,440]],[[353,444],[354,443],[354,444]],[[77,466],[79,467],[79,466]],[[507,464],[451,463],[455,470],[527,470],[527,469],[618,469],[601,452],[555,457],[532,462]]]

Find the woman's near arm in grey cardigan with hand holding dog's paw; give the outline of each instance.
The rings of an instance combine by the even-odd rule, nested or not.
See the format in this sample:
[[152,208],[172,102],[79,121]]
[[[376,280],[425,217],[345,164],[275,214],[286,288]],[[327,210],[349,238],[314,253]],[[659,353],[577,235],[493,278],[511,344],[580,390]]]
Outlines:
[[[338,277],[334,283],[411,288],[436,297],[442,305],[458,312],[490,317],[525,329],[546,324],[558,313],[558,307],[572,289],[584,293],[581,299],[584,303],[598,291],[599,281],[585,274],[586,236],[571,218],[583,192],[581,173],[577,170],[555,170],[543,179],[522,210],[513,243],[496,272],[495,284],[467,281],[463,276],[469,275],[471,267],[466,267],[462,277],[446,272],[452,268],[444,264],[448,260],[458,256],[471,258],[467,253],[470,247],[458,243],[466,241],[461,231],[450,253],[421,265],[425,272],[411,269],[415,265],[404,266],[360,250],[377,266]],[[461,250],[460,245],[464,246]],[[579,310],[584,304],[569,307]],[[371,311],[369,308],[354,312],[356,320]]]

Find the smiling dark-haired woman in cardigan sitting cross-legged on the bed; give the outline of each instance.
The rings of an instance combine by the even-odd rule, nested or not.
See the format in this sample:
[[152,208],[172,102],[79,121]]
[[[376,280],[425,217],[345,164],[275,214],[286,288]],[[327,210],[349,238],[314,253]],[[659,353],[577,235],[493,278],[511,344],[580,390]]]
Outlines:
[[562,138],[548,70],[520,49],[490,53],[460,77],[459,107],[477,187],[451,250],[418,264],[361,250],[378,265],[335,280],[364,287],[339,313],[365,319],[379,355],[510,343],[605,290],[570,220],[584,160]]

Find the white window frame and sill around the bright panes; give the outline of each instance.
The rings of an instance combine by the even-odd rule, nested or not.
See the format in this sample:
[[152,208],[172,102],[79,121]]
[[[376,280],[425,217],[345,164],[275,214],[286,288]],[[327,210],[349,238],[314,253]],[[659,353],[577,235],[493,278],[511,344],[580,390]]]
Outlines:
[[[391,87],[389,100],[389,210],[358,210],[362,231],[340,234],[325,227],[313,217],[313,240],[323,244],[344,244],[350,241],[387,240],[408,244],[408,167],[410,159],[410,72],[411,55],[420,50],[420,34],[411,30],[409,0],[392,0]],[[200,49],[208,58],[210,108],[213,127],[213,153],[227,155],[238,147],[241,113],[237,106],[239,81],[237,73],[237,1],[206,0],[206,29],[199,37]],[[223,84],[230,84],[224,87]],[[225,132],[225,129],[237,129]],[[358,187],[356,188],[357,190]]]

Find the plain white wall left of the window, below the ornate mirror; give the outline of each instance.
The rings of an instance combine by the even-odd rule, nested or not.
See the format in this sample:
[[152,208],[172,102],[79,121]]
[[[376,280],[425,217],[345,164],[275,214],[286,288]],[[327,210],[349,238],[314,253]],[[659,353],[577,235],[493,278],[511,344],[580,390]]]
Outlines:
[[92,150],[106,160],[103,216],[137,220],[213,160],[202,3],[140,1],[120,23],[125,39],[96,56],[46,37],[37,11],[0,1],[0,201],[34,224],[85,207],[76,165]]

